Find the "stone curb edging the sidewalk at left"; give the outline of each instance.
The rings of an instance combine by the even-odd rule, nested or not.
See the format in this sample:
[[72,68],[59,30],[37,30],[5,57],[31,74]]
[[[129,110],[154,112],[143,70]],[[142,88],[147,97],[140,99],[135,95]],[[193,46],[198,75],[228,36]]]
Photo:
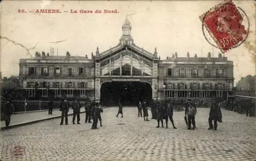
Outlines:
[[[108,106],[104,106],[102,107],[102,109],[108,108]],[[86,113],[86,111],[80,112],[80,114],[82,113]],[[72,114],[68,114],[68,116],[71,116]],[[13,124],[13,125],[9,125],[8,127],[1,127],[1,130],[5,130],[5,129],[10,129],[10,128],[14,128],[14,127],[19,127],[19,126],[25,126],[25,125],[30,125],[33,123],[37,123],[37,122],[41,122],[41,121],[47,121],[47,120],[52,120],[52,119],[58,119],[61,118],[61,115],[58,116],[53,116],[53,117],[49,117],[49,118],[44,118],[44,119],[38,119],[38,120],[33,120],[33,121],[28,121],[28,122],[23,122],[23,123],[17,123],[17,124]]]

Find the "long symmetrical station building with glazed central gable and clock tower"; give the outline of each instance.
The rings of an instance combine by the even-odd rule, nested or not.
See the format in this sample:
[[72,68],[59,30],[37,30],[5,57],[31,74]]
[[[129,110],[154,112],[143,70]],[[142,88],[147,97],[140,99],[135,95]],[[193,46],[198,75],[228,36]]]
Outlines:
[[[233,89],[233,62],[221,54],[217,58],[197,55],[160,60],[153,52],[135,45],[131,23],[125,19],[119,43],[87,56],[36,54],[20,59],[19,78],[28,97],[54,98],[65,93],[96,101],[133,99],[228,99]],[[114,100],[115,101],[115,100]]]

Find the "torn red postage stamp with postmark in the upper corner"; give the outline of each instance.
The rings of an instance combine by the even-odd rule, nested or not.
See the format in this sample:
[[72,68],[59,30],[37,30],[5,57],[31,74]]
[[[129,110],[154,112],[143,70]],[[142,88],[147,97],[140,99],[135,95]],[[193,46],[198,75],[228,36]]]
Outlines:
[[200,19],[223,53],[241,44],[248,35],[243,16],[230,0],[210,9]]

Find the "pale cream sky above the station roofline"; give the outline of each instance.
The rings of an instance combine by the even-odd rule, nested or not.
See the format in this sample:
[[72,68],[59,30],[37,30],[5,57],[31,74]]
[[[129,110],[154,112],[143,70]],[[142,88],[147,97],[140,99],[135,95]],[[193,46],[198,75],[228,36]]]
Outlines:
[[[36,51],[50,52],[50,46],[54,48],[54,55],[58,48],[58,55],[65,56],[69,51],[73,56],[87,54],[89,58],[97,46],[100,52],[108,50],[119,43],[126,16],[131,21],[134,43],[152,53],[157,47],[161,60],[172,57],[175,52],[178,57],[186,57],[187,52],[190,57],[195,53],[198,57],[207,57],[208,52],[218,57],[221,51],[206,41],[199,16],[221,2],[4,1],[0,24],[2,77],[18,75],[19,59],[30,58],[26,48],[32,48],[29,52],[33,57]],[[246,29],[249,27],[246,41],[251,41],[255,47],[255,2],[233,2],[248,17],[243,23]],[[18,13],[19,9],[26,13]],[[36,13],[36,9],[58,9],[61,13]],[[104,9],[118,13],[94,13]],[[78,13],[70,13],[70,10]],[[93,13],[80,13],[80,10]],[[225,57],[233,61],[234,85],[242,76],[255,74],[255,62],[244,43],[226,52]]]

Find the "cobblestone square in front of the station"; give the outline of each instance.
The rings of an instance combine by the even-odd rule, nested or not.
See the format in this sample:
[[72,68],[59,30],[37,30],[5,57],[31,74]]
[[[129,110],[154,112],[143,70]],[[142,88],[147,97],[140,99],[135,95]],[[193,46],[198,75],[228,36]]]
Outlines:
[[[255,118],[222,109],[223,123],[208,130],[209,109],[198,109],[196,130],[187,130],[184,112],[175,112],[178,129],[156,128],[144,122],[137,108],[104,109],[103,127],[91,130],[81,114],[81,124],[59,125],[54,119],[2,130],[1,160],[255,160]],[[148,111],[151,118],[151,112]],[[13,156],[15,146],[25,147],[22,159]]]

